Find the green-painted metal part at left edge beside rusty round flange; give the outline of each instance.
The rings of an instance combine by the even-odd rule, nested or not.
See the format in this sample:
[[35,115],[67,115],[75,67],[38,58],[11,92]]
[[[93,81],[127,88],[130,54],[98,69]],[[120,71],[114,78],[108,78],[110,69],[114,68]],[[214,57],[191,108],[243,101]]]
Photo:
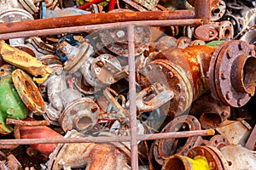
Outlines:
[[0,133],[8,134],[13,128],[5,124],[6,118],[25,119],[28,114],[26,105],[20,99],[11,75],[0,82]]

